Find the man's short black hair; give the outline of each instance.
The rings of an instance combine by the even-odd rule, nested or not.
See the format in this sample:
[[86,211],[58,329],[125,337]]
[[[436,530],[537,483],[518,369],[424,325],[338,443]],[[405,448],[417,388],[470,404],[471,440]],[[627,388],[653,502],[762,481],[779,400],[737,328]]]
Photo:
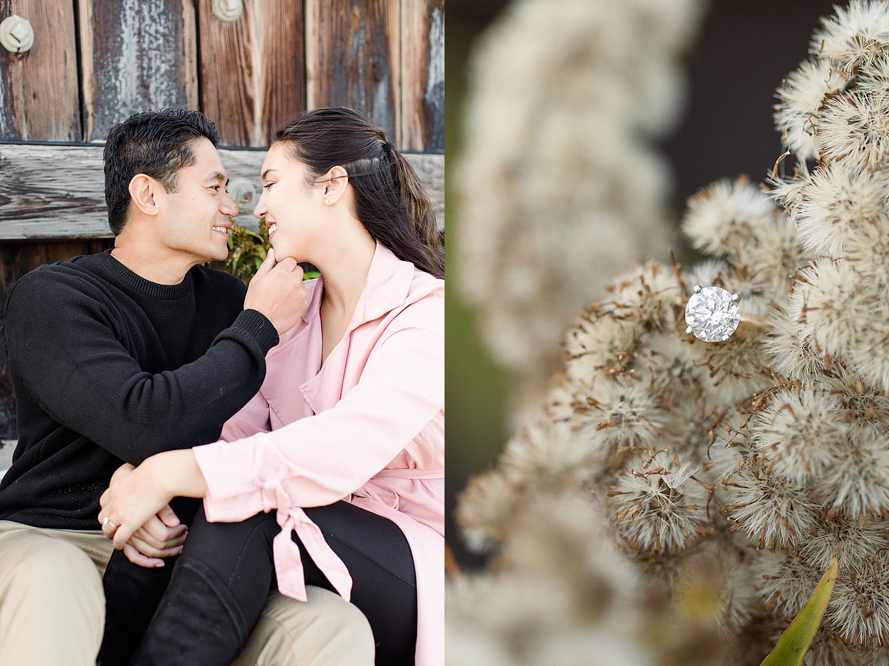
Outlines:
[[192,141],[202,137],[219,145],[220,135],[211,120],[199,111],[179,108],[141,111],[111,128],[103,157],[108,226],[113,234],[124,229],[132,177],[144,173],[166,192],[177,192],[177,174],[196,162]]

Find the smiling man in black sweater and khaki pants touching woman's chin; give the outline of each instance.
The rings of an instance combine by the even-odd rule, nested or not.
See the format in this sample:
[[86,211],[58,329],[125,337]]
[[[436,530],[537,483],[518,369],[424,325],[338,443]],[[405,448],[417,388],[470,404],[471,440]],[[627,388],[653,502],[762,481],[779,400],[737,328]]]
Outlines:
[[[19,444],[0,483],[0,663],[95,663],[100,575],[112,551],[96,517],[111,474],[218,440],[306,307],[290,258],[275,266],[270,252],[246,290],[202,266],[228,256],[237,213],[218,142],[195,111],[148,111],[116,125],[104,153],[114,250],[41,266],[12,289],[6,335]],[[177,522],[165,511],[134,535],[127,557],[162,566],[180,551]],[[350,645],[370,640],[372,654],[356,609],[330,597],[317,606],[328,620],[339,613],[325,629],[327,652],[341,647],[339,662],[354,662]],[[305,622],[311,604],[270,599],[245,666],[292,662],[302,648],[276,626],[317,624]]]

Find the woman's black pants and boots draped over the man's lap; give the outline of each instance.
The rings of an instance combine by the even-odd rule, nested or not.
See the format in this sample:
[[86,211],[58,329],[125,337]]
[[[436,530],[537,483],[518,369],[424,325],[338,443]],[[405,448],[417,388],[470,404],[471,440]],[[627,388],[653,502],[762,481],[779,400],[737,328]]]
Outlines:
[[[190,666],[194,661],[187,654],[201,654],[202,663],[207,666],[216,663],[228,666],[243,650],[246,635],[259,621],[268,591],[276,585],[272,540],[280,527],[275,511],[259,513],[240,523],[210,523],[204,517],[199,501],[177,498],[176,502],[173,510],[183,522],[190,524],[179,557],[168,559],[165,567],[149,569],[132,564],[123,551],[115,551],[108,563],[103,579],[107,610],[101,666],[130,662],[137,647],[139,654],[135,662],[140,664],[176,666],[182,663]],[[417,637],[417,588],[411,547],[401,529],[391,520],[347,502],[304,511],[321,529],[324,540],[352,576],[351,601],[370,622],[376,643],[376,663],[412,664]],[[194,519],[188,520],[191,515]],[[300,547],[306,584],[335,592],[308,556],[299,537],[294,533],[292,538]],[[190,564],[186,565],[186,562]],[[188,634],[185,639],[193,644],[182,651],[184,661],[171,661],[169,654],[163,654],[161,658],[160,652],[163,652],[172,627],[187,629],[188,617],[183,619],[182,613],[190,611],[171,607],[169,600],[175,602],[184,598],[188,606],[188,594],[180,594],[177,598],[174,588],[177,584],[190,584],[186,569],[195,567],[225,585],[225,594],[230,599],[228,605],[236,607],[230,612],[239,613],[243,618],[246,635],[230,648],[222,648],[212,636],[203,636],[201,623],[196,622],[196,630],[176,631],[177,636]],[[177,569],[182,571],[174,575]],[[164,614],[169,617],[164,619]],[[178,619],[173,621],[172,618]],[[202,640],[212,645],[202,647]],[[156,658],[153,656],[154,646],[160,651]]]

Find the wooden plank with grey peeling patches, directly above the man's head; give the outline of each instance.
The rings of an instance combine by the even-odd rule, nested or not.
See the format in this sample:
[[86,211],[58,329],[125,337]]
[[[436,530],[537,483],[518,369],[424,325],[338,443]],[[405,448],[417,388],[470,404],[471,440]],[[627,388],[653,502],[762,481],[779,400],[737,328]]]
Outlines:
[[79,0],[85,138],[148,108],[198,107],[192,0]]

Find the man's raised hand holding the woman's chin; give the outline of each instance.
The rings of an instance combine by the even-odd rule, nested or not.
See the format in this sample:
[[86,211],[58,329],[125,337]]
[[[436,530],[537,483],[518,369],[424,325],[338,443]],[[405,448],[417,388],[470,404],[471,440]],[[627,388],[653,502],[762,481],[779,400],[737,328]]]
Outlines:
[[275,250],[268,250],[247,288],[244,310],[265,314],[280,336],[296,326],[307,306],[302,269],[296,260],[285,257],[275,264]]

